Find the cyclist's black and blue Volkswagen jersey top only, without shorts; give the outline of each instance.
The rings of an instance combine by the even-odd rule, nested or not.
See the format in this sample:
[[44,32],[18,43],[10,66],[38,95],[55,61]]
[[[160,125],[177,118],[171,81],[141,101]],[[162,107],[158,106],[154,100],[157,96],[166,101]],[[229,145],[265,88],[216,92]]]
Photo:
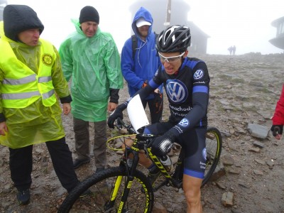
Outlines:
[[204,61],[185,58],[174,75],[168,75],[163,65],[160,66],[149,84],[151,87],[163,84],[169,101],[170,121],[179,123],[185,131],[193,126],[207,126],[209,81]]

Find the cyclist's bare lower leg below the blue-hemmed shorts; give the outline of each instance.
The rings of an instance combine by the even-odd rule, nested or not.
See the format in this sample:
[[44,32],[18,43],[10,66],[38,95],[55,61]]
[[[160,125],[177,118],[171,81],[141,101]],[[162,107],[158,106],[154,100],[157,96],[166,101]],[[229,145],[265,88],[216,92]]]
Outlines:
[[187,213],[202,212],[201,191],[202,179],[183,175],[182,187],[187,201]]

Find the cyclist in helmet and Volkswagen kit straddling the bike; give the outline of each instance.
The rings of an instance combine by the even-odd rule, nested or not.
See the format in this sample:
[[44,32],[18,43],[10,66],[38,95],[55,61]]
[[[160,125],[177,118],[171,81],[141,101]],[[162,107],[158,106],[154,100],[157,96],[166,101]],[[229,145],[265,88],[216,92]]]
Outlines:
[[[174,142],[180,143],[185,149],[182,187],[187,200],[187,212],[202,212],[200,187],[206,165],[209,73],[204,61],[187,57],[190,40],[190,28],[186,26],[170,26],[162,31],[156,40],[162,65],[148,85],[136,94],[143,100],[160,84],[165,87],[170,118],[166,122],[146,126],[144,132],[160,135],[151,143],[155,155],[167,154]],[[129,101],[120,104],[109,116],[110,128],[114,128],[115,119],[123,118],[122,111]]]

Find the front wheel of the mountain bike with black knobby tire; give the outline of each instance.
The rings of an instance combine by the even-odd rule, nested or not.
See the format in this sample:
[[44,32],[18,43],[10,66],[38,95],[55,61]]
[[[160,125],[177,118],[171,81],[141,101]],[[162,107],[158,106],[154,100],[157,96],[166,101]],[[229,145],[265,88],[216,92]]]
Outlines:
[[[121,185],[117,192],[114,207],[105,207],[109,204],[114,182],[122,176]],[[121,212],[151,212],[153,209],[154,194],[146,175],[139,170],[133,173],[133,182],[124,209]],[[60,205],[58,212],[119,212],[119,202],[124,190],[127,171],[124,166],[108,168],[100,173],[95,173],[75,187]],[[122,187],[121,187],[122,186]],[[143,187],[144,190],[141,190]],[[80,197],[86,190],[92,193]]]

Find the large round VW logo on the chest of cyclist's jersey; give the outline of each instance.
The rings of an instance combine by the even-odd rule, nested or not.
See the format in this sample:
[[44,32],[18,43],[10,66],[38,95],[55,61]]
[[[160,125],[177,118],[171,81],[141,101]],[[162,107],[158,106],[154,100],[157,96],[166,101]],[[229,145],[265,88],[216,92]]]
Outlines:
[[167,90],[168,97],[175,104],[185,102],[188,96],[187,87],[180,80],[167,80],[167,85],[165,86]]

